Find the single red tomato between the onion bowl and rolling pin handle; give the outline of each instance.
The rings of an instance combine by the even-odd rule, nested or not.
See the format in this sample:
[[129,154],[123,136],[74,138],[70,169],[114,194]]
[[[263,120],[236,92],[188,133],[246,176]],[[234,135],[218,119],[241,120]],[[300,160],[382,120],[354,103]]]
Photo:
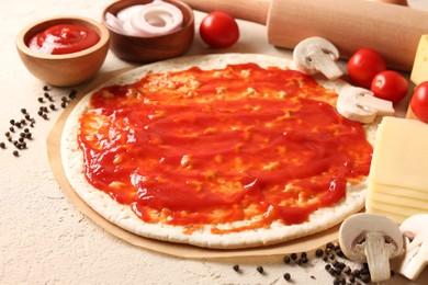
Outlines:
[[211,12],[201,22],[199,32],[211,47],[233,46],[239,38],[239,27],[235,19],[224,12]]

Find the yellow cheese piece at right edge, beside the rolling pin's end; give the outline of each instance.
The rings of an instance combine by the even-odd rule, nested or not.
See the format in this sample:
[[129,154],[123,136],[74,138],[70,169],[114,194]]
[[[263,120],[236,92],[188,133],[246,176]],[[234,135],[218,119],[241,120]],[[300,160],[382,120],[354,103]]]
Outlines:
[[423,35],[416,50],[410,80],[416,84],[428,81],[428,35]]

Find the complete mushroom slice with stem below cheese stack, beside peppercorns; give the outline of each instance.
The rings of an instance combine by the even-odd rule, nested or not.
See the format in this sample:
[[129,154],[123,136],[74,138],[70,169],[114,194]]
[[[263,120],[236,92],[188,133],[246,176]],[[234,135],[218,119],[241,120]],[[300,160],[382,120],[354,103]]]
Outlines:
[[339,243],[345,255],[368,262],[373,282],[391,277],[390,259],[403,253],[403,235],[385,216],[360,213],[347,218],[339,229]]

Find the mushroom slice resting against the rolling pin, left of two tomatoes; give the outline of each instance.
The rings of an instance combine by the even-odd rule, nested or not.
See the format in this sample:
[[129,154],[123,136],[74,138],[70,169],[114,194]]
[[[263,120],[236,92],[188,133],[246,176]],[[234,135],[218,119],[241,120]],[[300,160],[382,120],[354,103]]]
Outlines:
[[299,70],[306,75],[322,72],[330,80],[343,75],[336,64],[338,58],[339,50],[336,46],[318,36],[300,42],[293,50],[293,60]]

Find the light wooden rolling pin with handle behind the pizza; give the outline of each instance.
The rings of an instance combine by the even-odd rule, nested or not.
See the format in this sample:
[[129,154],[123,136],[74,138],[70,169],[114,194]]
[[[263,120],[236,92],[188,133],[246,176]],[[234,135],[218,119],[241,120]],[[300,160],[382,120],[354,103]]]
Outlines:
[[362,0],[183,0],[195,10],[224,11],[268,27],[270,44],[293,49],[322,36],[343,59],[360,47],[383,55],[390,68],[410,71],[417,45],[428,34],[428,12]]

